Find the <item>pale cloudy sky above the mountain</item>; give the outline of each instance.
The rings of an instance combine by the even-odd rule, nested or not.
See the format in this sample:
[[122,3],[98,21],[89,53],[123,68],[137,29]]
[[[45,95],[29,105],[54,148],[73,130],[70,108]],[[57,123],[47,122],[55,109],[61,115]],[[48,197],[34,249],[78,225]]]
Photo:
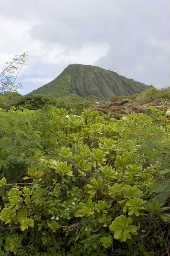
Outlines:
[[0,69],[29,52],[23,95],[74,63],[170,86],[170,0],[8,0],[0,27]]

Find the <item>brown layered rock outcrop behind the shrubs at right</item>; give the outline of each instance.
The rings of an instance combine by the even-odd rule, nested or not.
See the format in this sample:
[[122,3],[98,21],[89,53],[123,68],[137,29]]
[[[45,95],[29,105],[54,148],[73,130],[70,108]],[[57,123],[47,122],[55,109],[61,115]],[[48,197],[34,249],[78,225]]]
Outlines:
[[[170,106],[170,102],[167,102],[167,107]],[[123,99],[122,101],[117,101],[117,102],[106,102],[105,104],[102,105],[93,105],[89,109],[91,111],[101,111],[105,115],[108,115],[108,113],[111,111],[114,113],[114,118],[119,119],[119,115],[124,113],[124,107],[128,107],[131,109],[131,112],[135,113],[144,113],[148,114],[148,110],[145,107],[155,107],[158,109],[161,109],[161,103],[160,102],[150,102],[145,105],[140,105],[134,100],[129,100],[129,99]]]

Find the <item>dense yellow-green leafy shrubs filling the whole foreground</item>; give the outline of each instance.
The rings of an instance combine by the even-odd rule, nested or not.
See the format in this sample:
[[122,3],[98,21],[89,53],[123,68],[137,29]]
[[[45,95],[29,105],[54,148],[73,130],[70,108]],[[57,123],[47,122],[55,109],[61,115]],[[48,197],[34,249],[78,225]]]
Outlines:
[[168,256],[170,111],[0,109],[0,256]]

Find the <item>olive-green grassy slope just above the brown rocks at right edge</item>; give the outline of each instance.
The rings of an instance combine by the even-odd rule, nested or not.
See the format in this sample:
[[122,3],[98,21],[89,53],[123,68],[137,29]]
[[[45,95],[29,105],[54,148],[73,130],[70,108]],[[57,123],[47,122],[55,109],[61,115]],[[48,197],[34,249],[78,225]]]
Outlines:
[[135,100],[140,105],[144,105],[150,102],[161,102],[161,99],[167,99],[170,100],[170,87],[157,90],[156,88],[150,88],[149,90],[146,90],[139,94],[134,94],[132,96],[127,97],[113,97],[112,100],[122,100],[122,99],[131,99]]

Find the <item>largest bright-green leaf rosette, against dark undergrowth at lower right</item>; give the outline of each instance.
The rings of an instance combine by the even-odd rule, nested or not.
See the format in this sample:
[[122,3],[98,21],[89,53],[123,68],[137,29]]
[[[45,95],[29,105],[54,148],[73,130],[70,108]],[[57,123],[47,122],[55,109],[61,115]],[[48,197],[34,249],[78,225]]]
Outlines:
[[133,219],[126,218],[125,215],[120,215],[116,217],[115,220],[110,225],[110,230],[114,232],[114,238],[125,242],[127,239],[131,239],[131,235],[137,235],[137,227],[132,225]]

